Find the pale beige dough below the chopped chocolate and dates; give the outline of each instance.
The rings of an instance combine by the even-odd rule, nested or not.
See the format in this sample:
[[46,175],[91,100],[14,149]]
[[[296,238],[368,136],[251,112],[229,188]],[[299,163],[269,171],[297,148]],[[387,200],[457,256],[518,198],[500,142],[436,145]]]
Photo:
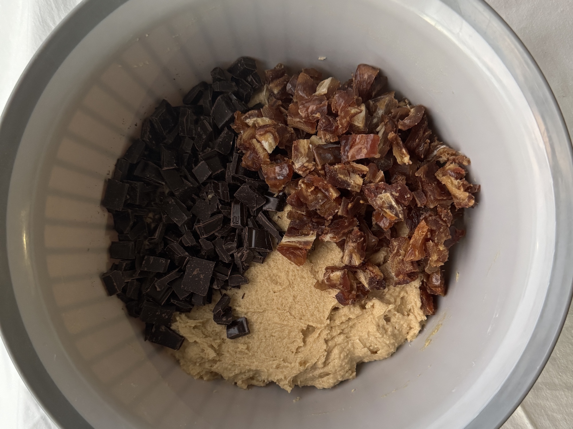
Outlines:
[[250,335],[227,339],[225,326],[213,321],[214,304],[205,305],[176,314],[171,327],[186,341],[172,354],[194,378],[222,377],[242,388],[270,382],[287,391],[328,388],[355,378],[356,364],[390,356],[418,335],[426,316],[419,279],[344,306],[334,298],[336,291],[316,289],[324,268],[340,265],[341,255],[335,243],[317,241],[297,267],[271,252],[264,264],[246,271],[248,284],[226,292],[233,310],[248,318]]

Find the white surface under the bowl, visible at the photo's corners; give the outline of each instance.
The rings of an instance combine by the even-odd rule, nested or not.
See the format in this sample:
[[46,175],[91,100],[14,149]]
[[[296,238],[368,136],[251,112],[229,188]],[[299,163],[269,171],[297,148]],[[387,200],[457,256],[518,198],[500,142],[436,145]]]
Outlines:
[[[22,70],[78,0],[0,0],[0,109]],[[573,1],[488,0],[529,49],[573,130]],[[570,131],[571,134],[571,131]],[[573,427],[573,309],[547,366],[503,429]],[[56,429],[0,344],[0,429]]]

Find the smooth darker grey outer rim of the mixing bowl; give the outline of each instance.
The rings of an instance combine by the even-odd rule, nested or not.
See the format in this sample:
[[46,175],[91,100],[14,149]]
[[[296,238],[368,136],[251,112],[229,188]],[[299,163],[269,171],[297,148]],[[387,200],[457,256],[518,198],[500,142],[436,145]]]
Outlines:
[[[46,414],[62,429],[93,429],[65,398],[38,357],[24,327],[10,279],[6,209],[19,142],[46,85],[76,45],[128,0],[84,0],[42,43],[14,87],[0,117],[0,336]],[[499,428],[519,406],[549,359],[566,319],[573,292],[573,229],[565,228],[573,200],[573,150],[555,96],[539,66],[509,25],[484,0],[439,0],[480,34],[503,61],[536,117],[551,166],[555,195],[555,251],[550,284],[532,336],[500,390],[465,429]],[[560,228],[562,227],[562,228]]]

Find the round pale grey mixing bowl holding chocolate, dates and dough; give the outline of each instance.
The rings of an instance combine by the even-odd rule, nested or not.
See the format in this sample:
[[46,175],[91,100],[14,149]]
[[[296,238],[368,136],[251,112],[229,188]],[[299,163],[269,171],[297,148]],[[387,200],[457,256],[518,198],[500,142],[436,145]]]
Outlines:
[[[162,98],[180,104],[240,55],[340,80],[381,67],[481,184],[437,315],[331,390],[194,380],[99,280],[116,158]],[[2,335],[65,429],[499,427],[570,302],[570,141],[539,69],[478,0],[87,0],[23,74],[0,148]]]

